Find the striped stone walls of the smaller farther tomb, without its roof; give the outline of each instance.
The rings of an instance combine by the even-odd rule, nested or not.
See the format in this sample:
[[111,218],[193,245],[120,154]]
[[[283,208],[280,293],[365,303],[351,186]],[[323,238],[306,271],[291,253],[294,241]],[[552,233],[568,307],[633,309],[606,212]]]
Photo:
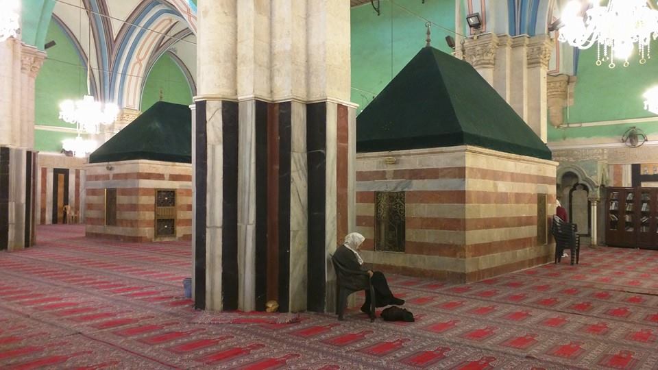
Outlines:
[[[175,239],[192,237],[192,166],[153,160],[87,164],[85,234],[132,242],[155,237],[156,190],[176,190]],[[117,189],[117,225],[106,225],[106,188]]]

